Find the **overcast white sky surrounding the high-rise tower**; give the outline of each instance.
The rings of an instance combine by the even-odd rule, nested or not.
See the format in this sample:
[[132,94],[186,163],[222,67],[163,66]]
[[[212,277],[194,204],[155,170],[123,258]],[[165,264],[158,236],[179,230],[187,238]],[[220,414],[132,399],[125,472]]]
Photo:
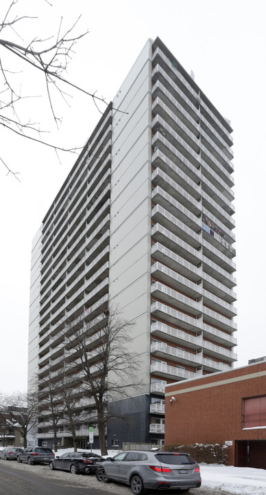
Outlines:
[[[23,14],[38,16],[17,28],[25,40],[48,37],[60,17],[89,34],[76,45],[68,78],[112,100],[148,38],[160,36],[234,129],[235,220],[237,228],[237,353],[235,366],[266,355],[265,337],[265,62],[264,0],[19,0]],[[10,1],[1,0],[0,20]],[[2,37],[7,37],[2,32]],[[14,39],[15,36],[14,36]],[[22,43],[19,38],[17,43]],[[3,57],[2,50],[0,57]],[[14,67],[5,55],[5,65]],[[23,69],[23,67],[19,67]],[[32,72],[19,75],[27,94],[42,92]],[[47,102],[25,100],[22,115],[44,122],[51,140],[82,146],[100,118],[92,100],[72,92],[70,106],[58,100],[59,131]],[[27,384],[27,332],[31,244],[71,166],[60,155],[0,128],[0,156],[21,173],[19,183],[0,166],[1,284],[0,392]]]

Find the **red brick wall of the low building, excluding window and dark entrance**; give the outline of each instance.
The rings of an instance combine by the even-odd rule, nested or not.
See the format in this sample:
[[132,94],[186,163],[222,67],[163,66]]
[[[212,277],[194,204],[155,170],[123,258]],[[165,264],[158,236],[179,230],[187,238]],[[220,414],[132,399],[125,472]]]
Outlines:
[[266,428],[242,429],[242,399],[256,395],[266,395],[266,362],[167,386],[165,444],[232,441],[234,464],[236,440],[266,439]]

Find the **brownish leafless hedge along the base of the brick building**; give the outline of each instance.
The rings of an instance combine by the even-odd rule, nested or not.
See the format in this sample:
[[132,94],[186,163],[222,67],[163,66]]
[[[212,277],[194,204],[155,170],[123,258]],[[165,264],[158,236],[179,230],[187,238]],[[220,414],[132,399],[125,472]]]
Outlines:
[[226,464],[228,459],[228,448],[222,443],[195,443],[195,445],[176,445],[170,443],[164,445],[163,450],[167,452],[186,452],[190,454],[197,463]]

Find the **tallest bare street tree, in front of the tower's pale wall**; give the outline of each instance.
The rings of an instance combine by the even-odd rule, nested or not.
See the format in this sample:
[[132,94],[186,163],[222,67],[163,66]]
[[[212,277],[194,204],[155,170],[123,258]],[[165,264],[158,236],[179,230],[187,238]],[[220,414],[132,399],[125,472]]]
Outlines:
[[84,395],[93,398],[102,455],[107,454],[106,425],[114,417],[110,402],[140,386],[136,354],[130,350],[133,326],[110,307],[96,318],[88,310],[66,327],[67,346],[73,351],[69,367],[83,377]]

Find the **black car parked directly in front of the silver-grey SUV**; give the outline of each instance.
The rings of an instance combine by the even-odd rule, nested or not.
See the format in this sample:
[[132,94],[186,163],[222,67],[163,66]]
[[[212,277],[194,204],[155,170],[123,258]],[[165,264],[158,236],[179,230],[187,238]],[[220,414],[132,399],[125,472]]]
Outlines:
[[104,461],[103,457],[90,452],[67,452],[60,457],[56,456],[56,459],[49,463],[49,467],[50,470],[70,471],[72,474],[95,473],[101,461]]

